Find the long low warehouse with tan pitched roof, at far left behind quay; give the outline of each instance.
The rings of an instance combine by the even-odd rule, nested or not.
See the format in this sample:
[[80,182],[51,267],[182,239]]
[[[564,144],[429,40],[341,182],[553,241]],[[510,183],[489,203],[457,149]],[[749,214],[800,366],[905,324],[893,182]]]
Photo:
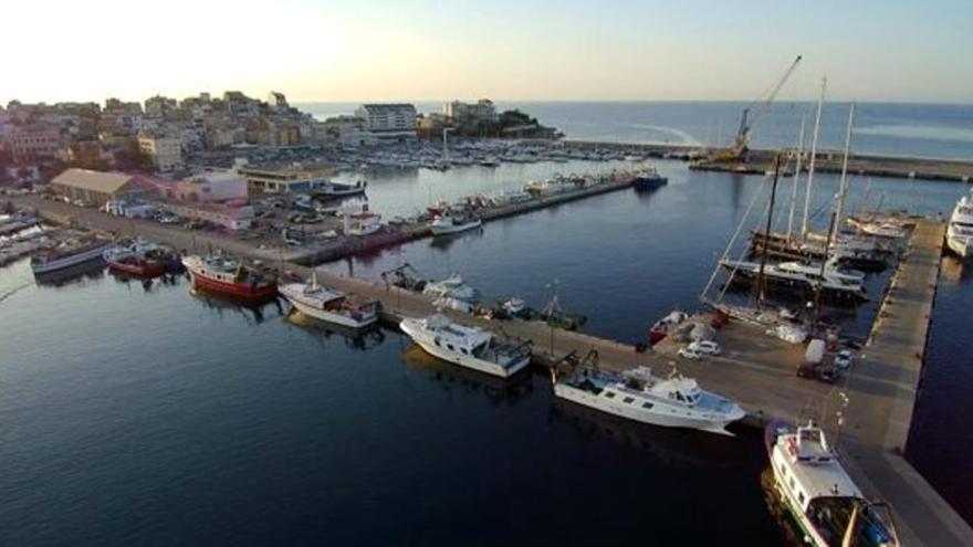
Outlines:
[[151,197],[156,187],[137,175],[72,167],[51,180],[51,189],[71,200],[103,207],[109,201]]

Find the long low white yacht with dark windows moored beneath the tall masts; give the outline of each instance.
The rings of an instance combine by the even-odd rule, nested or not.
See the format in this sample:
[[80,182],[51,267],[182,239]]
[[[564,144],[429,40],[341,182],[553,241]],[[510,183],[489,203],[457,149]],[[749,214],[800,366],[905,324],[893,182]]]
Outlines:
[[[755,280],[761,271],[760,262],[723,260],[720,264],[730,270],[734,278],[739,275]],[[820,287],[835,296],[868,299],[865,294],[865,274],[838,267],[834,256],[828,259],[824,270],[820,263],[780,262],[765,264],[763,274],[767,283],[810,290]]]

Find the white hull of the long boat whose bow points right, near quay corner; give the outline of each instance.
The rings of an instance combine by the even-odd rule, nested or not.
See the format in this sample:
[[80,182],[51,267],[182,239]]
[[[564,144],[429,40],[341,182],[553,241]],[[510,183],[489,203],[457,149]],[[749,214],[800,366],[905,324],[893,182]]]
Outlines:
[[577,404],[600,410],[609,414],[619,415],[621,418],[628,418],[629,420],[635,420],[637,422],[661,425],[663,428],[695,429],[723,435],[731,434],[725,429],[730,423],[729,421],[712,421],[703,419],[702,417],[686,415],[684,409],[666,409],[662,404],[656,404],[652,407],[652,410],[647,410],[641,406],[627,404],[621,400],[616,399],[605,399],[590,391],[585,391],[561,382],[554,383],[554,395]]

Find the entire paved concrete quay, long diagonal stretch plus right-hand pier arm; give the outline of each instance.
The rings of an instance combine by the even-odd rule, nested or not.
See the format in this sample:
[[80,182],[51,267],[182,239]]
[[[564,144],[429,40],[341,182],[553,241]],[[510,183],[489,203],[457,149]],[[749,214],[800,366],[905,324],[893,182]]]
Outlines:
[[[64,203],[38,201],[48,214],[77,214],[77,208]],[[198,252],[207,248],[261,259],[302,275],[312,269],[290,262],[297,254],[287,249],[257,249],[250,242],[218,234],[199,234],[154,222],[107,217],[87,210],[82,222],[111,230],[124,236],[140,235],[177,249]],[[688,360],[676,357],[679,345],[658,345],[637,353],[630,344],[598,338],[584,333],[552,329],[537,322],[491,322],[448,312],[456,320],[478,325],[511,338],[531,340],[535,354],[558,359],[569,351],[585,355],[597,350],[600,365],[622,370],[649,366],[657,374],[673,367],[697,378],[703,389],[720,392],[739,401],[749,419],[758,424],[771,418],[804,420],[835,415],[840,408],[839,393],[849,406],[841,431],[839,451],[849,473],[870,497],[890,502],[899,516],[904,545],[973,545],[969,525],[901,456],[919,386],[922,354],[929,328],[935,282],[939,275],[944,225],[919,221],[910,238],[906,259],[900,264],[883,302],[880,317],[870,336],[862,359],[856,361],[843,385],[828,386],[797,378],[796,367],[804,355],[802,346],[764,336],[755,327],[730,323],[719,334],[724,353],[720,357]],[[436,309],[429,298],[380,282],[337,276],[318,270],[320,283],[381,301],[389,317],[426,316]],[[647,326],[655,317],[635,317]],[[707,316],[698,316],[707,320]],[[827,427],[827,420],[825,420]],[[834,424],[831,424],[834,425]]]

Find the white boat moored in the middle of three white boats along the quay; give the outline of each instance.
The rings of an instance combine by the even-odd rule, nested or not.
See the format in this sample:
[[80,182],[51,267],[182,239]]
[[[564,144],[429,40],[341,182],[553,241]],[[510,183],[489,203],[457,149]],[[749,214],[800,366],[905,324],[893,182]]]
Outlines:
[[486,330],[452,323],[443,315],[405,318],[399,327],[430,355],[488,375],[509,378],[531,362],[527,345],[502,343]]

